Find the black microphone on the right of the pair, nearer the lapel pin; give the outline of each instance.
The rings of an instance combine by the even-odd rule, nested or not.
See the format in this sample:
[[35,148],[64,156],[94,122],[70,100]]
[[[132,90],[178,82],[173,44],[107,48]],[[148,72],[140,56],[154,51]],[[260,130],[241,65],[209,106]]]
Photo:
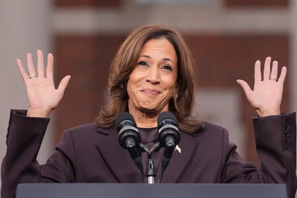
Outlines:
[[157,123],[160,146],[165,147],[162,158],[162,171],[164,171],[169,164],[174,148],[179,143],[181,136],[173,113],[162,112],[157,119]]

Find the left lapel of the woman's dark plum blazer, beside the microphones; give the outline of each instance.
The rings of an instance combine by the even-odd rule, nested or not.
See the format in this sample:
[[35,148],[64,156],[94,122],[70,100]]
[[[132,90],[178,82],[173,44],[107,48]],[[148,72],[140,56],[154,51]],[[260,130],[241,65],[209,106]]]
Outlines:
[[101,133],[102,138],[96,147],[118,181],[120,183],[142,183],[140,170],[133,162],[129,152],[118,143],[116,128],[99,128],[98,132]]

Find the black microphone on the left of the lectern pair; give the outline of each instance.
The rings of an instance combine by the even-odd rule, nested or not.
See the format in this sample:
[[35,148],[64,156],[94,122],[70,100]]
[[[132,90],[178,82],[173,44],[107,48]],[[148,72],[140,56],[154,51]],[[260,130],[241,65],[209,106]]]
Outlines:
[[133,116],[127,112],[123,112],[116,118],[115,125],[119,133],[119,143],[121,147],[129,151],[134,163],[143,172],[144,168],[138,151],[140,135]]

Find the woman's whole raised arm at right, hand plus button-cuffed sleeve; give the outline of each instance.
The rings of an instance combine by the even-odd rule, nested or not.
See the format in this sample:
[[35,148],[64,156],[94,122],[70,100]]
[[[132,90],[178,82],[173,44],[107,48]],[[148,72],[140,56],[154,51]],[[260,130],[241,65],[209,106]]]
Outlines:
[[[293,198],[296,192],[296,119],[295,114],[280,115],[287,68],[282,67],[278,79],[278,62],[273,61],[271,67],[271,57],[267,57],[263,77],[260,61],[255,62],[254,70],[253,90],[246,81],[239,79],[237,82],[260,117],[253,119],[256,149],[261,160],[259,178],[263,183],[287,184],[289,197]],[[289,137],[286,135],[288,126]]]

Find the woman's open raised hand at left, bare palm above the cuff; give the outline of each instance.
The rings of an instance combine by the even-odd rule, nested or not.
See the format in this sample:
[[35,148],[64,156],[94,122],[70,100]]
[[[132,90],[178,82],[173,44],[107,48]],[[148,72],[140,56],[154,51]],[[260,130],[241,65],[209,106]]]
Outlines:
[[17,66],[26,85],[29,100],[27,116],[49,117],[51,111],[61,101],[70,76],[65,76],[56,89],[53,82],[53,56],[51,53],[48,54],[48,63],[45,71],[44,56],[41,50],[37,50],[37,73],[30,53],[27,54],[29,74],[26,72],[22,62],[18,59]]

